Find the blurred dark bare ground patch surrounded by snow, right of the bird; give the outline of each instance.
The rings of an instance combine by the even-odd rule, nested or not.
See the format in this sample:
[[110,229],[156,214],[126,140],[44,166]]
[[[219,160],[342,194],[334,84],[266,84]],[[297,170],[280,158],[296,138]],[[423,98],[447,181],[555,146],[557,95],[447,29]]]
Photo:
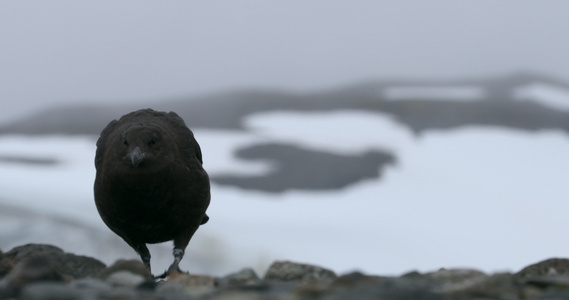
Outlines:
[[254,145],[240,149],[236,155],[246,160],[270,161],[275,169],[262,176],[213,176],[213,182],[267,192],[341,189],[378,178],[387,166],[395,164],[394,156],[380,151],[339,155],[286,144]]

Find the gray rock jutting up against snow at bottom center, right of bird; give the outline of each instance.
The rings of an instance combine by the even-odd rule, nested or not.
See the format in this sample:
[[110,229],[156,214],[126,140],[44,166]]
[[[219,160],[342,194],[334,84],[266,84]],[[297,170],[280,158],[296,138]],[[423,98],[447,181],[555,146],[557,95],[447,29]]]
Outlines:
[[294,281],[304,279],[335,279],[336,277],[336,273],[322,267],[290,261],[277,261],[269,267],[264,279]]

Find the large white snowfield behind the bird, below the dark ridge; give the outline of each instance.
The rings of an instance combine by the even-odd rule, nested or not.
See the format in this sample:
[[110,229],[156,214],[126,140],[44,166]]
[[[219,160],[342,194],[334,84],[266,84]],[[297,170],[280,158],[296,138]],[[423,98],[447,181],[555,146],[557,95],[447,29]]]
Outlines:
[[[269,194],[213,184],[210,222],[190,243],[182,268],[195,270],[195,253],[214,265],[200,271],[219,275],[249,266],[262,272],[276,259],[339,273],[517,271],[569,255],[569,139],[559,131],[470,127],[414,139],[385,115],[354,111],[259,114],[247,124],[254,130],[195,131],[210,174],[269,171],[229,155],[257,142],[349,153],[391,146],[399,162],[381,180],[341,191]],[[94,139],[86,137],[0,137],[0,156],[25,151],[64,161],[55,167],[0,163],[0,203],[64,215],[114,235],[93,204],[94,150]],[[0,231],[14,227],[7,228]],[[112,262],[121,255],[98,258]],[[168,251],[153,253],[160,256],[170,260]]]

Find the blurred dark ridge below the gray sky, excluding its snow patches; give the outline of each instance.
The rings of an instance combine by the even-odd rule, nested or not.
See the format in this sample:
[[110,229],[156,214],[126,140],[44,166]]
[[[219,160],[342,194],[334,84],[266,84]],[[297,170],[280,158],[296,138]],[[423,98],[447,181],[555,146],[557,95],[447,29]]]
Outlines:
[[[295,94],[250,90],[209,96],[156,100],[146,105],[60,106],[0,127],[0,134],[98,134],[109,121],[143,107],[175,111],[190,128],[245,130],[248,115],[267,111],[377,111],[396,117],[416,133],[464,126],[497,126],[535,131],[559,129],[569,132],[569,112],[532,101],[517,101],[516,88],[542,83],[569,90],[559,80],[520,72],[506,77],[452,81],[390,80],[368,82],[327,91]],[[393,86],[472,86],[485,96],[480,101],[402,99],[390,101],[382,94]]]

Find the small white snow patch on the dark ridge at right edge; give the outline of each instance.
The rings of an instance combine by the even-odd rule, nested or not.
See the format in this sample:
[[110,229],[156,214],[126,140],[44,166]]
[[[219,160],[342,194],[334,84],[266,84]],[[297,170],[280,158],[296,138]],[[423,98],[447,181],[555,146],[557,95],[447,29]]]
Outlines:
[[533,83],[516,88],[513,98],[535,101],[553,109],[569,111],[569,90],[545,83]]

